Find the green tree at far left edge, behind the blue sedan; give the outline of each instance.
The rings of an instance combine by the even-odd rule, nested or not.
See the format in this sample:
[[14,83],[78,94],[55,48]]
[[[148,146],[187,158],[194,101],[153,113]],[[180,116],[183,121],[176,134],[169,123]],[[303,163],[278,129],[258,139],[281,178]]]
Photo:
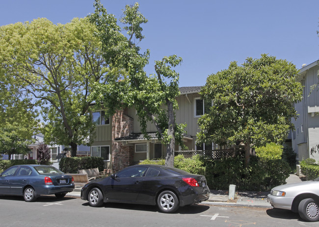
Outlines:
[[23,95],[21,84],[0,68],[0,153],[26,154],[37,132],[35,103]]

